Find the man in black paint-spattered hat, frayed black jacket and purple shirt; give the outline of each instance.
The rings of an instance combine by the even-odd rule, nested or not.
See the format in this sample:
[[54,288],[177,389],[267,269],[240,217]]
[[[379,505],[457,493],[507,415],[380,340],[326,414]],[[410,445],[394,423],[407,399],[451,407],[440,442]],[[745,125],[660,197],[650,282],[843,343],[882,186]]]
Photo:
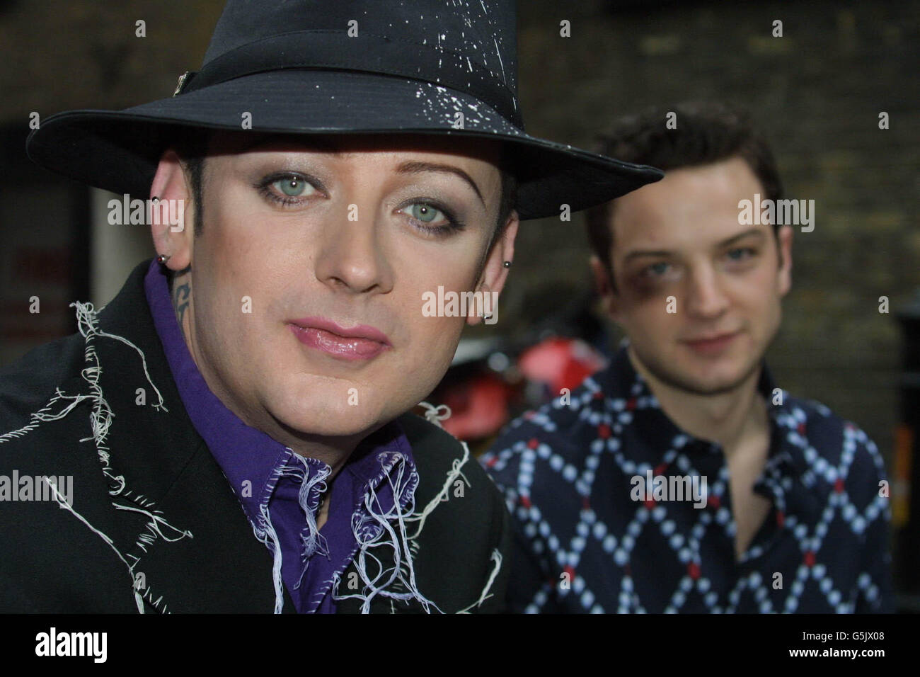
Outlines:
[[0,611],[500,610],[500,494],[407,412],[520,219],[661,177],[523,132],[514,20],[232,0],[172,98],[29,137],[149,195],[157,256],[0,375]]

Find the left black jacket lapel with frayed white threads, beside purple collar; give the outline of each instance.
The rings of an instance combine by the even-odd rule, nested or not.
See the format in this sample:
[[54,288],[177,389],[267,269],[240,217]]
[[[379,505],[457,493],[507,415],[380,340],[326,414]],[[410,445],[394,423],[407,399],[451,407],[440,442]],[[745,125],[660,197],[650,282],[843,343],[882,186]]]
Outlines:
[[[270,613],[271,554],[179,399],[144,296],[147,265],[98,315],[102,332],[137,350],[105,335],[92,339],[113,414],[111,474],[123,478],[113,502],[126,507],[125,519],[143,519],[134,543],[125,544],[127,559],[148,609]],[[284,595],[284,610],[293,612]]]

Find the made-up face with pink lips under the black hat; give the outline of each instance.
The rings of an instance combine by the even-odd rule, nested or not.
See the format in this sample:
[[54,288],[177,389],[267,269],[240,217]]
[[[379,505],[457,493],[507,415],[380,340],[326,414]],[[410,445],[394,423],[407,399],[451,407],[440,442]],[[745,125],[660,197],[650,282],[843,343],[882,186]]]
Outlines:
[[184,232],[192,355],[224,403],[282,442],[362,438],[419,403],[454,355],[466,318],[423,316],[422,295],[499,291],[516,216],[480,276],[499,146],[300,143],[213,138],[201,235]]

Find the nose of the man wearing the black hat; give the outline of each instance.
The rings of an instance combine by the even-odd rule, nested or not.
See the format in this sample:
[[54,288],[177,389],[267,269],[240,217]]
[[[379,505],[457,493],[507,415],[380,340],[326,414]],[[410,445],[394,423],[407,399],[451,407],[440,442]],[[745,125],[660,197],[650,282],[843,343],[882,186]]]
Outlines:
[[370,206],[350,204],[342,218],[325,224],[316,261],[316,278],[324,285],[352,294],[385,294],[393,288],[393,271],[374,218],[349,218],[371,214]]

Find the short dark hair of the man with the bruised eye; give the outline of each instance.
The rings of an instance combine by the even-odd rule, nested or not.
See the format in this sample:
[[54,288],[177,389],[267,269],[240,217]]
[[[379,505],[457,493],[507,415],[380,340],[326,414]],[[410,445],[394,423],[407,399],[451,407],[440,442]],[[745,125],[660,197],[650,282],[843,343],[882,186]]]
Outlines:
[[[676,117],[670,113],[676,113]],[[673,119],[676,128],[668,129]],[[776,160],[765,138],[751,123],[746,111],[715,102],[694,101],[656,107],[616,121],[601,136],[596,150],[611,158],[669,169],[707,165],[729,158],[742,158],[764,187],[765,198],[778,200],[783,186]],[[585,212],[588,241],[614,282],[613,207],[615,201]],[[773,225],[776,234],[777,224]]]

